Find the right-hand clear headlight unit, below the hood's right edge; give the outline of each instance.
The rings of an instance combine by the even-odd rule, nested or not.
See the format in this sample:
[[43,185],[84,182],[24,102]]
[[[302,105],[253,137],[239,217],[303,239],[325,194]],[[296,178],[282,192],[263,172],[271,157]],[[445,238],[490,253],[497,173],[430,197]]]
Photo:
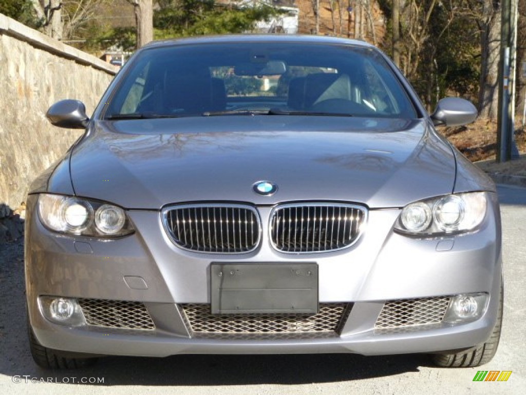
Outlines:
[[410,203],[402,209],[395,230],[419,235],[469,232],[486,214],[485,192],[459,193]]

